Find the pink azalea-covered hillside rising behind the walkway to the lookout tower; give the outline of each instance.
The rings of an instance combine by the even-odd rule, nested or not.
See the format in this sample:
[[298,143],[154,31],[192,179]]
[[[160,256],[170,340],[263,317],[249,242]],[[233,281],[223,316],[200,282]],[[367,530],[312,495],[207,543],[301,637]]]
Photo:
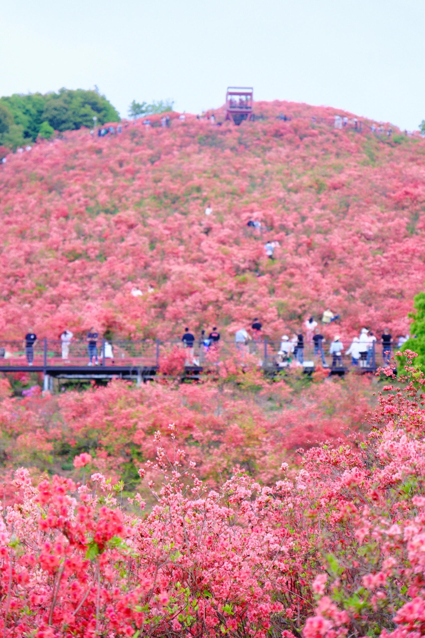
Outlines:
[[424,280],[425,142],[335,130],[320,119],[341,114],[331,108],[255,110],[264,119],[240,127],[173,114],[169,128],[73,131],[10,154],[3,338],[94,323],[132,338],[171,338],[187,323],[231,334],[253,316],[276,337],[327,306],[344,334],[364,324],[404,334]]

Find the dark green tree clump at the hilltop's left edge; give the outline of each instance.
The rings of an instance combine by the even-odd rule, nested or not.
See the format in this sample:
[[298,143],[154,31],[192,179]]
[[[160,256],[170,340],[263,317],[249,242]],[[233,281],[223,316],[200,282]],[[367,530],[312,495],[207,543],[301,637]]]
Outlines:
[[119,122],[117,110],[99,91],[60,89],[59,93],[13,94],[0,98],[0,144],[15,149],[34,142],[38,136],[49,139],[54,131],[92,127]]

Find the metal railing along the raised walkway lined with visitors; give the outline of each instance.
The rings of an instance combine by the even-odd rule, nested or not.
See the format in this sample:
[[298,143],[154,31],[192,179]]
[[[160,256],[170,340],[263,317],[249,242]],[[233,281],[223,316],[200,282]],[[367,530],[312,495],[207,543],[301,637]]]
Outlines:
[[[159,367],[167,357],[173,359],[178,351],[185,353],[185,366],[211,368],[220,362],[234,361],[236,364],[263,367],[264,369],[285,369],[291,367],[314,368],[317,366],[345,369],[376,369],[387,362],[380,350],[382,346],[373,344],[363,359],[356,360],[345,351],[349,343],[344,344],[340,355],[329,353],[329,344],[322,348],[314,348],[305,344],[297,349],[291,344],[291,352],[282,354],[280,341],[270,339],[253,339],[248,343],[235,343],[220,339],[218,343],[204,345],[200,340],[194,342],[192,348],[185,348],[180,340],[161,341],[150,339],[143,341],[97,341],[97,345],[89,351],[84,341],[71,340],[63,343],[59,340],[39,339],[32,348],[25,347],[22,341],[0,340],[0,367],[36,366],[43,367]],[[294,351],[295,350],[295,351]],[[394,353],[394,347],[391,354]],[[180,356],[180,355],[179,355]],[[390,355],[391,356],[391,355]]]

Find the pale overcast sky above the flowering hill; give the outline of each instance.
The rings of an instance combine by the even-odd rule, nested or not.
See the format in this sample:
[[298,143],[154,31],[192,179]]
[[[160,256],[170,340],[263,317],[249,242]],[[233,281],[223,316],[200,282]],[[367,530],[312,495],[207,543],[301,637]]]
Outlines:
[[0,93],[97,85],[129,103],[254,100],[350,110],[408,130],[425,119],[424,0],[15,0],[3,4]]

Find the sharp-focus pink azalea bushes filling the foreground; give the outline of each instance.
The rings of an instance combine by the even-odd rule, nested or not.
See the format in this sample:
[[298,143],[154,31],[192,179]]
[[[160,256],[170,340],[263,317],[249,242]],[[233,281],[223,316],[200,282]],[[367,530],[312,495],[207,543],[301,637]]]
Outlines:
[[310,449],[270,487],[236,467],[209,491],[175,426],[170,456],[155,433],[140,470],[162,482],[148,482],[146,516],[100,473],[34,486],[18,470],[1,519],[3,636],[424,635],[425,380],[407,373],[364,441]]

